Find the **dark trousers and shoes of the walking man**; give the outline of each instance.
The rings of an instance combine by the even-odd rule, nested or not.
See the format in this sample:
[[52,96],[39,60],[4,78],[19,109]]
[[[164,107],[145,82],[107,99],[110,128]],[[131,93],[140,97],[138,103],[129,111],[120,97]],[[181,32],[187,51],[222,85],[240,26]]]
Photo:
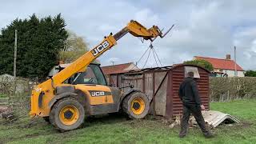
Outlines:
[[194,118],[198,122],[198,126],[201,128],[202,133],[204,135],[209,134],[209,131],[206,129],[206,125],[202,117],[201,107],[183,104],[183,116],[182,116],[181,131],[179,136],[184,137],[186,135],[190,114],[194,115]]

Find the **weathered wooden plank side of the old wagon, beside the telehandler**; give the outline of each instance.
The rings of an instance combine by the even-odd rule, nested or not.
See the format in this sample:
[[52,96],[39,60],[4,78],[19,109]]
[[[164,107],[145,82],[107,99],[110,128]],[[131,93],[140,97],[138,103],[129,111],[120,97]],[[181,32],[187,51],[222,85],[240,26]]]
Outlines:
[[[154,72],[148,71],[143,74],[118,74],[111,75],[111,81],[114,84],[118,84],[115,86],[124,87],[134,85],[134,88],[144,91],[148,98],[151,100],[153,98],[154,93],[158,90],[158,87],[162,81],[162,86],[159,87],[158,93],[155,95],[155,102],[151,104],[150,114],[154,114],[153,107],[155,106],[155,114],[157,115],[165,115],[166,110],[166,88],[167,88],[167,77],[163,79],[166,75],[167,71],[157,71]],[[154,77],[153,77],[154,75]],[[117,78],[118,77],[118,78]],[[153,80],[155,78],[155,80]],[[118,80],[118,82],[114,81]],[[145,86],[144,86],[145,84]],[[143,90],[144,89],[144,90]],[[154,90],[153,90],[154,89]],[[130,90],[130,88],[123,88],[124,92]]]

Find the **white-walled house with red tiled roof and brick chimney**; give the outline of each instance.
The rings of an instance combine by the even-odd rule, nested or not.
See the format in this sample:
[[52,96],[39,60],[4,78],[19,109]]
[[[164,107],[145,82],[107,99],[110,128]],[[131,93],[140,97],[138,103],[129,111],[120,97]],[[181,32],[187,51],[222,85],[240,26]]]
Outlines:
[[216,74],[217,77],[234,77],[235,69],[237,70],[238,77],[245,76],[245,70],[243,70],[242,67],[238,65],[238,63],[231,59],[230,54],[226,54],[226,58],[208,58],[195,56],[194,59],[203,59],[207,62],[210,62],[214,66],[214,74]]

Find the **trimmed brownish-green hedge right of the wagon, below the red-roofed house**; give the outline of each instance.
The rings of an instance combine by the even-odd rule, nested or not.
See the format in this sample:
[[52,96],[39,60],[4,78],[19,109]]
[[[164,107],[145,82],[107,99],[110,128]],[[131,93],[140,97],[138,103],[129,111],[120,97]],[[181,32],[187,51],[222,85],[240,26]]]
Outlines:
[[210,99],[212,102],[241,98],[256,98],[256,78],[210,78]]

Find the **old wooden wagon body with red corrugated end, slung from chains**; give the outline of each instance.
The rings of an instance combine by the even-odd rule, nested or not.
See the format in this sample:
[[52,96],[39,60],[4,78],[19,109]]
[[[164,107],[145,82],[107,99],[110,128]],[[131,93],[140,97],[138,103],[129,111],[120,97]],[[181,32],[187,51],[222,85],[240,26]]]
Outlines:
[[[134,85],[150,98],[150,113],[172,118],[182,114],[182,102],[178,97],[178,88],[186,74],[194,72],[198,82],[201,101],[209,110],[209,75],[210,72],[200,66],[176,65],[134,70],[121,74],[110,74],[109,82],[113,86]],[[129,88],[123,88],[126,91]]]

